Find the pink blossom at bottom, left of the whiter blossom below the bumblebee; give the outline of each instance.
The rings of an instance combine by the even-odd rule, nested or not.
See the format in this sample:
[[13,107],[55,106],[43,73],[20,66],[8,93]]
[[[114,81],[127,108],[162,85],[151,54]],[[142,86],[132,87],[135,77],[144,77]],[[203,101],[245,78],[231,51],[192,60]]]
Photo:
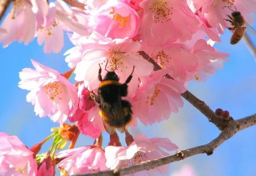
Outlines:
[[84,174],[108,170],[104,151],[96,146],[68,149],[56,154],[60,161],[58,168],[62,174]]

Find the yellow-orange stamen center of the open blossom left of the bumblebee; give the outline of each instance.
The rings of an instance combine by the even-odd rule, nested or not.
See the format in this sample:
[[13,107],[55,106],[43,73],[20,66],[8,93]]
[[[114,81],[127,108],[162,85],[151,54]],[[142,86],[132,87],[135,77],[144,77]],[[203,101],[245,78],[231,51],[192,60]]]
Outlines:
[[44,86],[44,88],[46,88],[46,94],[49,98],[51,98],[51,100],[55,100],[57,98],[57,100],[61,100],[61,85],[63,85],[62,83],[60,83],[60,81],[55,81],[53,83],[49,83],[46,86]]

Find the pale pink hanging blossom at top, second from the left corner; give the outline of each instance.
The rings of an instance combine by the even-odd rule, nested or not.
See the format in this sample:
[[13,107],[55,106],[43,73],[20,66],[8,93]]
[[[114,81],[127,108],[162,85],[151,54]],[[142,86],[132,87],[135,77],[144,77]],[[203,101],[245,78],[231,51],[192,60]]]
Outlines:
[[[43,19],[38,19],[38,44],[44,44],[45,53],[58,53],[64,45],[64,32],[73,31],[86,35],[85,24],[80,24],[76,15],[85,12],[69,8],[63,1],[56,1],[46,5],[47,1],[38,1]],[[86,23],[86,22],[84,22]]]

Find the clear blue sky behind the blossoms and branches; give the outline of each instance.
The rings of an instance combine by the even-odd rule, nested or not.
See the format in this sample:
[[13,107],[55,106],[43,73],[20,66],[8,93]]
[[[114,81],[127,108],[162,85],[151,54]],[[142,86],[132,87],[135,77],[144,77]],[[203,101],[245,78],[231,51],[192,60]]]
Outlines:
[[[252,27],[256,28],[255,23]],[[225,31],[222,43],[214,45],[218,50],[230,53],[229,62],[224,63],[224,69],[204,83],[192,81],[188,90],[213,110],[229,110],[234,119],[239,119],[256,113],[256,62],[242,41],[237,45],[229,44],[231,35],[229,31]],[[256,44],[255,36],[251,37]],[[44,54],[42,46],[38,46],[36,40],[27,46],[13,42],[5,49],[0,48],[0,131],[17,135],[31,147],[49,135],[51,127],[58,126],[47,117],[35,116],[34,107],[26,102],[28,91],[18,88],[18,72],[25,67],[32,67],[30,59],[64,72],[69,68],[63,53],[71,47],[72,44],[65,37],[65,47],[59,54]],[[170,138],[180,149],[203,145],[216,138],[220,131],[192,105],[185,100],[184,102],[184,108],[179,113],[172,114],[168,121],[153,126],[141,126],[133,133],[145,132],[148,138]],[[189,164],[197,175],[255,175],[255,134],[256,126],[247,128],[218,147],[212,156],[193,156],[171,164],[170,168],[175,171]],[[105,139],[106,143],[108,137]],[[89,138],[79,141],[79,145],[89,144],[92,144]],[[46,148],[47,146],[44,149]]]

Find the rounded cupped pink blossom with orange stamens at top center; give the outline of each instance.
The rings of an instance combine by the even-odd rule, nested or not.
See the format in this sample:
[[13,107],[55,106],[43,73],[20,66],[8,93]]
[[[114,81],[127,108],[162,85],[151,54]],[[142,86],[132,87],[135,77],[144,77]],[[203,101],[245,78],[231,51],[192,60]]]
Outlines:
[[133,38],[139,28],[137,12],[125,2],[107,1],[100,7],[92,8],[88,28],[110,38]]

